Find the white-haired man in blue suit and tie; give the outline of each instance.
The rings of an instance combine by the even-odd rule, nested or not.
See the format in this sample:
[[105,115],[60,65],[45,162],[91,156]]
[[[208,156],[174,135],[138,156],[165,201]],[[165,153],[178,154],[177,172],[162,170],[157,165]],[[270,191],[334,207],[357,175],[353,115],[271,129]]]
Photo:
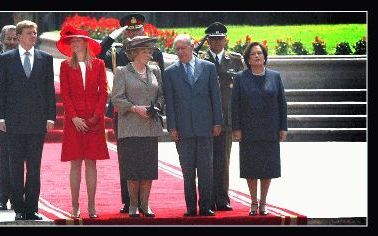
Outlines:
[[163,87],[168,131],[176,142],[184,177],[184,215],[197,215],[197,169],[199,213],[214,216],[210,209],[213,136],[221,133],[223,124],[217,72],[213,63],[193,56],[194,44],[189,35],[178,35],[174,46],[179,61],[165,70]]

